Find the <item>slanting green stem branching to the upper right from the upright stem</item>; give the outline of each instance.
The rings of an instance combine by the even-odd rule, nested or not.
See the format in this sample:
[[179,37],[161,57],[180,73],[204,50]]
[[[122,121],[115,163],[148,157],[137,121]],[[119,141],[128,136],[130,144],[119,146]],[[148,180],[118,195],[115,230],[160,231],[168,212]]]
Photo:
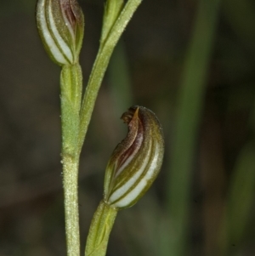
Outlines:
[[88,130],[88,123],[90,122],[92,111],[94,109],[95,100],[97,98],[99,88],[113,49],[116,46],[119,38],[122,35],[129,20],[131,20],[133,13],[138,8],[142,0],[129,0],[125,5],[119,18],[116,20],[115,25],[112,27],[109,36],[105,41],[100,43],[99,53],[97,54],[94,62],[93,70],[88,80],[84,98],[82,100],[81,108],[81,122],[79,134],[79,151],[82,150],[82,144]]

